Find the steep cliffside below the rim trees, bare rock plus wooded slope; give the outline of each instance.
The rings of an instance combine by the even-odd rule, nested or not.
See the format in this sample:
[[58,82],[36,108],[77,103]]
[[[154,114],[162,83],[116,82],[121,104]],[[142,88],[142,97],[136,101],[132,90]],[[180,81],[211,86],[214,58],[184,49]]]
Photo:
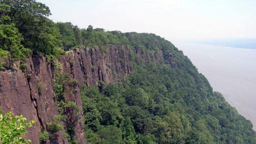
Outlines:
[[[4,112],[36,120],[25,136],[33,143],[43,131],[52,133],[46,143],[83,144],[85,135],[89,144],[105,143],[106,137],[118,140],[101,135],[108,130],[121,136],[114,143],[255,142],[251,122],[213,93],[206,78],[171,43],[161,50],[125,45],[75,49],[57,61],[31,56],[25,68],[19,62],[13,65],[23,72],[0,72],[0,105]],[[55,121],[64,130],[52,131],[49,123]]]

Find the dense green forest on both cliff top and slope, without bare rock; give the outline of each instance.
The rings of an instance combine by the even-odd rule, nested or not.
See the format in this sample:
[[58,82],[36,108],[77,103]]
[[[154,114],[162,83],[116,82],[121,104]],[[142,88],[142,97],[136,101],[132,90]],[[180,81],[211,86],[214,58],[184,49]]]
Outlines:
[[[70,22],[54,23],[47,18],[51,14],[49,7],[34,0],[0,2],[1,69],[15,68],[12,63],[7,65],[6,59],[24,63],[31,55],[43,55],[57,61],[65,51],[74,48],[99,46],[104,52],[109,45],[126,45],[134,50],[130,53],[133,74],[114,84],[102,81],[97,86],[81,88],[88,144],[256,143],[251,122],[238,114],[220,93],[213,92],[189,58],[166,39],[155,34],[105,31],[92,26],[81,29]],[[137,49],[149,53],[162,51],[163,64],[156,65],[150,60],[142,63],[136,57]],[[62,100],[64,90],[59,83],[65,82],[63,77],[60,74],[55,78],[60,114],[64,114],[63,107],[76,105]],[[42,142],[50,137],[51,131],[62,129],[57,123],[49,125],[48,132],[42,132]],[[70,137],[69,142],[76,140]]]

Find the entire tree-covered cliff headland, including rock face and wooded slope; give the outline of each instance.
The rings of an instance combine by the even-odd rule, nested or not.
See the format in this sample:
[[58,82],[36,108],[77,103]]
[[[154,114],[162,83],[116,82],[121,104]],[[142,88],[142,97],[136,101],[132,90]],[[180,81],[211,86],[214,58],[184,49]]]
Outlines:
[[251,122],[166,39],[0,2],[0,108],[36,121],[21,135],[33,144],[256,143]]

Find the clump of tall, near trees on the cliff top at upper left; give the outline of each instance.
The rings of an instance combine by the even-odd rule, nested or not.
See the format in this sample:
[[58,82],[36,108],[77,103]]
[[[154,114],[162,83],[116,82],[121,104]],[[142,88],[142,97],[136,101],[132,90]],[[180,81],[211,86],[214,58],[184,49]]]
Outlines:
[[46,5],[34,0],[2,0],[0,15],[0,59],[10,54],[12,61],[24,61],[32,52],[63,54],[58,48],[59,29],[45,17],[50,15]]

